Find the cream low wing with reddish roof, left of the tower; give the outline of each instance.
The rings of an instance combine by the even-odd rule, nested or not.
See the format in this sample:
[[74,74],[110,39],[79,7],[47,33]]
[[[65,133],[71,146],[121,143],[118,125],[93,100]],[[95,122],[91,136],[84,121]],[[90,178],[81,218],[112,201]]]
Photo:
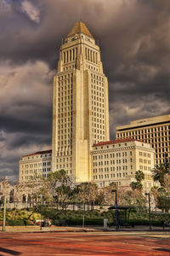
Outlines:
[[21,156],[19,182],[47,177],[51,172],[52,150],[38,151]]

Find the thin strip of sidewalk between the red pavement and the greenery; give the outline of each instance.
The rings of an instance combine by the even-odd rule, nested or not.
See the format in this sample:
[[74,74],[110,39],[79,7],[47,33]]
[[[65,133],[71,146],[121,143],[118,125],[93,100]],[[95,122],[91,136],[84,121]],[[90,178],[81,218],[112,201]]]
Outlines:
[[[133,228],[131,227],[120,227],[119,230],[116,230],[116,227],[110,227],[108,229],[104,229],[101,226],[93,227],[93,226],[86,226],[84,228],[82,227],[61,227],[61,226],[52,226],[49,228],[42,227],[42,230],[40,229],[40,226],[6,226],[5,232],[33,232],[33,233],[39,233],[39,232],[99,232],[99,231],[105,231],[105,232],[121,232],[121,231],[160,231],[160,232],[169,232],[170,228],[166,227],[165,230],[163,230],[162,227],[155,227],[152,226],[151,230],[149,226],[135,226]],[[2,227],[0,227],[0,233],[2,231]]]

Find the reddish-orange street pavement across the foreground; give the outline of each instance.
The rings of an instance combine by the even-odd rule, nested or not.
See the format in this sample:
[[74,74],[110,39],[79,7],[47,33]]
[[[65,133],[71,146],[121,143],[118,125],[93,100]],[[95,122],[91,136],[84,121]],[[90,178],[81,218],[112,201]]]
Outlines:
[[[167,237],[167,236],[165,236]],[[170,239],[150,233],[1,233],[2,255],[170,255]]]

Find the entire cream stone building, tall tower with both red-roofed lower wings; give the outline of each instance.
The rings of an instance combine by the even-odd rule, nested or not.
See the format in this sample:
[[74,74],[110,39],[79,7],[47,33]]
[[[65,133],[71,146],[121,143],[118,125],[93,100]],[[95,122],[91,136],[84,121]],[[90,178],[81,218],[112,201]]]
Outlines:
[[60,47],[53,88],[52,150],[21,157],[20,183],[64,169],[76,183],[128,186],[141,170],[144,188],[150,188],[154,167],[150,142],[125,139],[119,131],[116,136],[122,140],[110,141],[108,81],[99,45],[82,21]]

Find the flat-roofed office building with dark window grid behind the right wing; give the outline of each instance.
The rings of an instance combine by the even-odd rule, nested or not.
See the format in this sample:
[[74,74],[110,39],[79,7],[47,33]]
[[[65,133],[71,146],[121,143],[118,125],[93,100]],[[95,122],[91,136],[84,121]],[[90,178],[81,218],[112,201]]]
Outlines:
[[170,158],[170,114],[139,119],[130,125],[116,127],[116,138],[134,138],[144,143],[150,143],[155,149],[155,164]]

